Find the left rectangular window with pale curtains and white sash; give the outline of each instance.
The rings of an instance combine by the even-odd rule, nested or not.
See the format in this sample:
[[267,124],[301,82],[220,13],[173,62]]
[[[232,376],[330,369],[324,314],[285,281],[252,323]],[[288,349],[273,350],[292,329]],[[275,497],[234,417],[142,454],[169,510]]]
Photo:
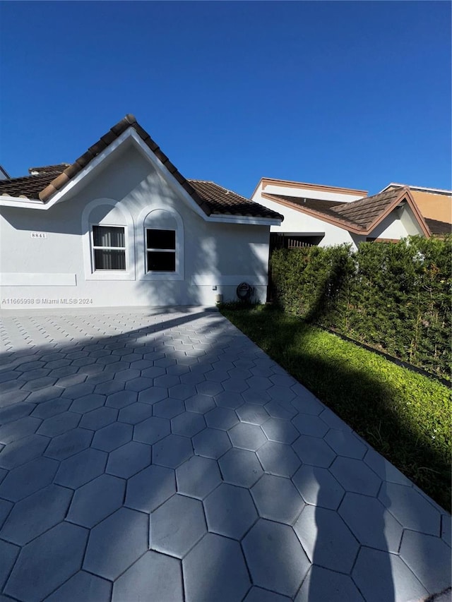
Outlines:
[[126,269],[126,235],[123,227],[93,226],[95,270]]

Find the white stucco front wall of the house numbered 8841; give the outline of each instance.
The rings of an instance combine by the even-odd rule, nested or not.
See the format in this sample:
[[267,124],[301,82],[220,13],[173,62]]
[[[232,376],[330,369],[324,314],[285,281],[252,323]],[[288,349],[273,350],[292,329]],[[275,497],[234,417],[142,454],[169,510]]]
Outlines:
[[[95,169],[81,190],[48,210],[1,207],[1,301],[25,300],[6,301],[1,308],[54,307],[64,304],[62,299],[69,306],[212,306],[218,294],[235,299],[243,281],[265,301],[268,226],[206,222],[177,183],[164,179],[132,147]],[[145,273],[144,220],[155,210],[182,224],[177,235],[182,269],[176,279]],[[126,274],[91,273],[90,225],[96,223],[126,226]]]

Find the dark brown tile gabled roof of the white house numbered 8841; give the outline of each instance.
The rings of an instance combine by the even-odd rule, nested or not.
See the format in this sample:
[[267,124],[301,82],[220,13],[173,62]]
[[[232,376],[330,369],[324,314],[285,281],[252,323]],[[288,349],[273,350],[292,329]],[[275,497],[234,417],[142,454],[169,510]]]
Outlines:
[[260,217],[270,219],[284,219],[279,213],[263,207],[258,203],[228,191],[227,188],[218,186],[213,182],[200,180],[187,180],[179,173],[169,161],[165,153],[150,138],[149,134],[138,124],[133,115],[126,115],[109,132],[102,136],[95,144],[78,157],[73,164],[61,163],[44,167],[31,167],[30,176],[12,178],[0,181],[0,195],[16,198],[39,199],[48,203],[54,194],[64,189],[71,179],[79,174],[90,164],[95,157],[107,149],[128,128],[133,128],[143,143],[154,153],[162,165],[179,182],[195,203],[201,207],[206,215],[238,215],[244,217]]

